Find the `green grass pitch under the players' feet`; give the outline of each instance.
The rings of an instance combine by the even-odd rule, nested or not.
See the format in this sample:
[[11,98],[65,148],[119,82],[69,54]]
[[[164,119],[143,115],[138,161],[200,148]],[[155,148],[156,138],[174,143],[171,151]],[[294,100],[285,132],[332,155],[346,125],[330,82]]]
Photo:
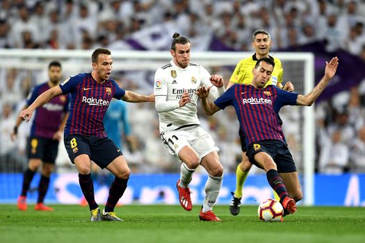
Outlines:
[[257,206],[242,206],[232,216],[228,206],[215,206],[223,222],[200,221],[200,206],[190,212],[180,206],[122,206],[122,222],[90,222],[88,208],[54,206],[37,212],[29,206],[0,205],[0,242],[365,242],[365,207],[304,207],[284,222],[265,223]]

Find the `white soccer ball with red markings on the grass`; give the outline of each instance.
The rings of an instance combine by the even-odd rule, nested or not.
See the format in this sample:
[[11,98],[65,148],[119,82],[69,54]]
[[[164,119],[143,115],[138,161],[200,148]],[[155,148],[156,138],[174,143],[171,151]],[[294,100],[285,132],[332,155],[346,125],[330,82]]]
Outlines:
[[267,199],[263,201],[257,209],[257,214],[262,221],[273,222],[281,221],[284,209],[282,204],[274,199]]

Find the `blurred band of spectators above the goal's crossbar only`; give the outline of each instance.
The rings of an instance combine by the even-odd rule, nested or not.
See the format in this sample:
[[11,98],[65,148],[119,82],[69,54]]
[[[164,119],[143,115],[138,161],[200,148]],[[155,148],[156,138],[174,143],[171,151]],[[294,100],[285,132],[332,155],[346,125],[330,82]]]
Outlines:
[[[356,0],[2,0],[0,48],[162,49],[174,32],[206,51],[217,38],[250,51],[252,31],[264,28],[273,50],[327,40],[364,56],[365,1]],[[140,43],[147,40],[159,43]],[[137,43],[136,43],[137,42]],[[168,47],[168,46],[167,46]]]

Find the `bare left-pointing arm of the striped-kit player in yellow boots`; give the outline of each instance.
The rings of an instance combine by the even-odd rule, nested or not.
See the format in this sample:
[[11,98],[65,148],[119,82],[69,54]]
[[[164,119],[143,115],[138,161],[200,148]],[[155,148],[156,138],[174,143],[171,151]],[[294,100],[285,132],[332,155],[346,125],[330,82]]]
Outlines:
[[62,94],[62,90],[60,89],[60,86],[52,87],[51,89],[44,91],[40,96],[35,99],[35,101],[29,106],[29,108],[26,108],[25,110],[22,110],[19,114],[19,117],[24,119],[24,121],[28,122],[33,115],[33,111],[43,106],[45,103],[50,101],[52,98]]

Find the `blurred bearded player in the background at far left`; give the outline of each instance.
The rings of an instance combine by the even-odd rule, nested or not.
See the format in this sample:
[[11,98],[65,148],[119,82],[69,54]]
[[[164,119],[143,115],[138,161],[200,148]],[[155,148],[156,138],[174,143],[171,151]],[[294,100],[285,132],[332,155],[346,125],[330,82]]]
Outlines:
[[[28,108],[35,99],[44,91],[58,86],[62,76],[60,62],[53,61],[48,65],[49,81],[33,87],[26,101],[25,108]],[[39,211],[53,211],[54,209],[45,206],[43,201],[49,187],[49,177],[54,171],[54,165],[58,153],[58,144],[62,138],[63,128],[65,128],[70,106],[70,95],[60,95],[51,99],[47,106],[39,108],[33,119],[31,134],[27,142],[27,156],[29,158],[28,168],[24,171],[22,192],[17,200],[17,208],[26,211],[26,194],[33,180],[38,167],[42,165],[40,171],[40,182],[38,185],[38,200],[34,209]],[[17,118],[11,139],[17,137],[17,130],[22,123],[20,117]]]

